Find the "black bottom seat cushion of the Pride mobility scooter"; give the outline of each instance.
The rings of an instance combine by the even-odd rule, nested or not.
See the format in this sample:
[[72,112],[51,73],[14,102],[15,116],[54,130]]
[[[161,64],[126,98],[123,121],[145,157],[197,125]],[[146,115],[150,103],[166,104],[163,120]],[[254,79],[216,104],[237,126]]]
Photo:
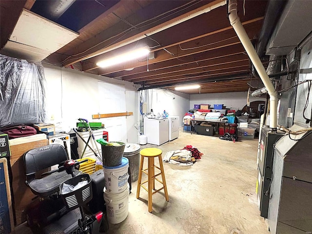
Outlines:
[[[75,175],[78,174],[81,172],[75,170]],[[59,192],[59,185],[70,178],[72,176],[68,175],[66,171],[55,172],[43,178],[32,180],[28,186],[35,195],[46,197]]]

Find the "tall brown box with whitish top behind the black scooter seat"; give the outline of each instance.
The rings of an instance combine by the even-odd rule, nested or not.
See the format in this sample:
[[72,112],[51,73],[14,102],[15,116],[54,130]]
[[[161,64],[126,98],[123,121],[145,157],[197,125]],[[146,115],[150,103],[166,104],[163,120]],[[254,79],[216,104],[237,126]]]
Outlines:
[[[36,195],[34,195],[30,188],[28,188],[25,184],[26,176],[23,156],[24,153],[31,149],[46,146],[48,144],[47,139],[37,140],[38,137],[39,136],[36,135],[34,135],[34,137],[19,137],[9,141],[11,148],[10,162],[12,168],[15,226],[18,226],[26,221],[25,209],[32,202],[32,199],[36,197]],[[32,141],[34,139],[35,141]]]

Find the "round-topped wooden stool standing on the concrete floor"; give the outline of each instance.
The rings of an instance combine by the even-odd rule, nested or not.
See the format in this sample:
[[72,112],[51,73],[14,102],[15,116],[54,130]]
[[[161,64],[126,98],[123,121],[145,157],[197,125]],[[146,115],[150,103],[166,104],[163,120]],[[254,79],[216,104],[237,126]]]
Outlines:
[[[145,148],[140,151],[141,160],[140,160],[140,170],[138,173],[138,180],[137,180],[137,198],[139,198],[140,196],[140,188],[142,186],[142,188],[148,192],[148,212],[150,213],[153,211],[152,209],[152,195],[153,194],[156,194],[157,192],[163,189],[165,192],[166,201],[169,201],[161,154],[162,154],[162,151],[157,148]],[[144,157],[148,158],[148,168],[143,170]],[[158,157],[160,168],[154,165],[155,157]],[[158,170],[160,170],[160,173],[158,173],[157,175],[155,175],[155,167]],[[148,179],[141,183],[142,173],[145,173],[148,176]],[[156,176],[159,176],[159,175],[161,175],[162,181],[156,178]],[[155,179],[163,185],[161,189],[155,190]],[[143,186],[143,184],[145,184],[146,182],[148,182],[148,188]],[[154,190],[154,192],[152,192],[152,189]]]

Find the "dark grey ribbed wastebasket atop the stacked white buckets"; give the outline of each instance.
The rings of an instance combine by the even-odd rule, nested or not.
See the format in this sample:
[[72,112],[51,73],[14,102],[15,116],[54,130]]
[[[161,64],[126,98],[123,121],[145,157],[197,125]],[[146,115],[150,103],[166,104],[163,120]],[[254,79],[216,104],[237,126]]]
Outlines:
[[[113,142],[110,142],[113,143]],[[121,164],[123,151],[125,149],[125,143],[119,143],[118,146],[114,145],[102,145],[102,159],[103,166],[105,167],[117,167]]]

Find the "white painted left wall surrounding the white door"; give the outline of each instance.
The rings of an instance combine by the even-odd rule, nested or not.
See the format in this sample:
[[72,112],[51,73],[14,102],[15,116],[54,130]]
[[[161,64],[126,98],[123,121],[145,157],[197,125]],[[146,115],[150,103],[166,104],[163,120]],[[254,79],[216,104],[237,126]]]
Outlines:
[[[105,101],[98,94],[98,81],[122,84],[126,88],[126,109],[134,113],[133,116],[127,117],[127,129],[124,134],[127,135],[128,142],[137,143],[137,131],[134,127],[138,113],[137,89],[133,83],[47,64],[43,66],[47,80],[49,122],[57,126],[57,123],[61,122],[61,126],[66,129],[76,127],[79,117],[97,121],[98,119],[92,119],[92,115],[98,114],[99,103]],[[51,117],[54,120],[51,120]],[[99,120],[105,124],[105,118]]]

